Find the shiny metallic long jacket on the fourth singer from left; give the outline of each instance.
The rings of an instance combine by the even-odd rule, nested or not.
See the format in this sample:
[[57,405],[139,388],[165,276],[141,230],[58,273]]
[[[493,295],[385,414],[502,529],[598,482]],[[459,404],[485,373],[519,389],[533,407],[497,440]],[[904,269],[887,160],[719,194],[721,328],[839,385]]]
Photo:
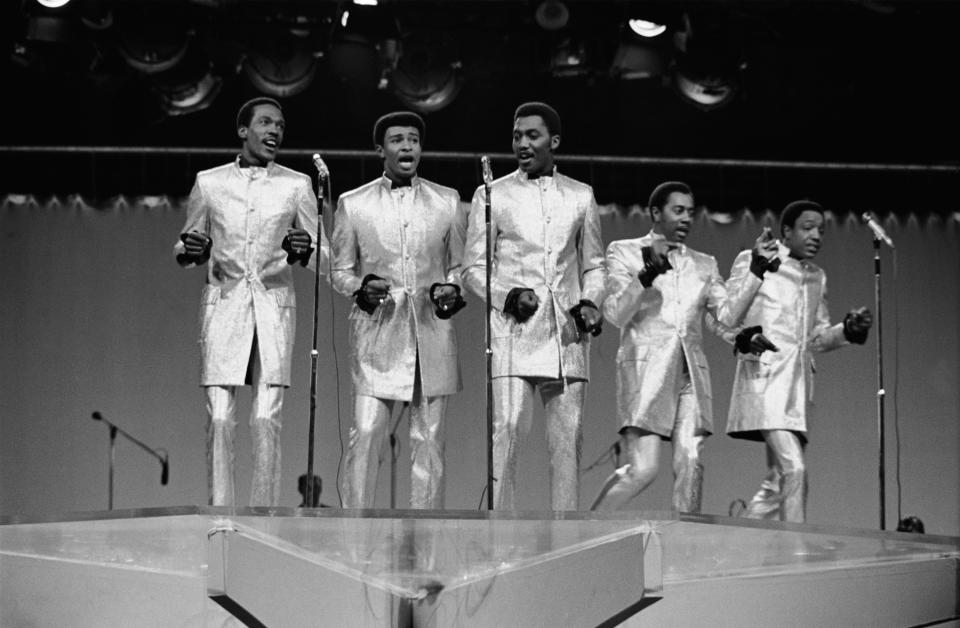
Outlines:
[[603,313],[621,329],[618,419],[623,426],[669,436],[677,413],[677,380],[686,359],[700,410],[698,427],[711,431],[713,394],[703,353],[703,318],[732,326],[742,317],[760,280],[750,274],[736,293],[728,293],[717,260],[681,244],[668,254],[673,269],[644,288],[637,277],[643,268],[641,250],[662,238],[651,232],[611,242],[607,248]]

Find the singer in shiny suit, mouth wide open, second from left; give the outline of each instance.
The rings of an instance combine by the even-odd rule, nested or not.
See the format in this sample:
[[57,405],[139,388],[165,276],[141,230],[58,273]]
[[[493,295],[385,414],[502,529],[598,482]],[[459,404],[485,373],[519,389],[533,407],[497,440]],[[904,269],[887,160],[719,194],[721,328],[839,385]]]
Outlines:
[[380,449],[397,401],[410,408],[410,506],[442,508],[443,423],[461,388],[450,317],[460,295],[466,215],[456,190],[417,176],[424,123],[394,112],[374,126],[383,176],[340,196],[331,277],[350,311],[353,427],[344,507],[374,505]]

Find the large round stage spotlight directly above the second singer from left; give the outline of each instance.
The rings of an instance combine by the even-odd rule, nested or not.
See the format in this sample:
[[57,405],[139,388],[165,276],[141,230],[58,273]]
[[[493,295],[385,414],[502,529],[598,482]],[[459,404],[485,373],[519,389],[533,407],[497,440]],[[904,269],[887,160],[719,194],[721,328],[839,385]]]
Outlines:
[[393,91],[421,113],[443,109],[460,91],[460,61],[442,35],[416,33],[403,39],[391,74]]

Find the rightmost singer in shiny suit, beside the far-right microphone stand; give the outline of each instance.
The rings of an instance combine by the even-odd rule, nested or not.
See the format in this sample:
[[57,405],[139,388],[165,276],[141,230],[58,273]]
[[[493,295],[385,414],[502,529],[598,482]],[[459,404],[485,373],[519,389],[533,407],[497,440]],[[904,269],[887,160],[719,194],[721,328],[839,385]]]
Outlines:
[[[778,268],[767,273],[734,342],[737,369],[727,434],[764,441],[768,472],[744,516],[802,522],[806,518],[803,450],[813,414],[813,354],[863,344],[873,323],[866,308],[830,324],[827,278],[811,259],[823,238],[823,208],[812,201],[787,205],[780,219]],[[749,278],[748,251],[733,263],[731,290]],[[732,339],[729,338],[728,339]]]

